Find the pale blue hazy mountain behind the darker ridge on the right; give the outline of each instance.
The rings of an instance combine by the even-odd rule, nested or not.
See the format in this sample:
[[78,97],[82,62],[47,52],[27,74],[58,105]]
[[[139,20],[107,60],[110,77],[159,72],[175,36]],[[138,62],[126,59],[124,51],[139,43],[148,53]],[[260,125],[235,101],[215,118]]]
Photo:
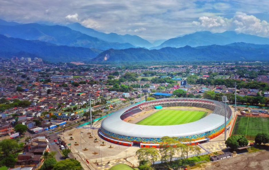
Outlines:
[[171,38],[162,43],[160,46],[152,47],[151,49],[161,49],[164,47],[184,47],[184,46],[208,46],[208,45],[226,45],[234,42],[245,42],[252,44],[269,44],[269,39],[236,33],[235,31],[225,31],[223,33],[211,33],[209,31],[195,32],[181,37]]

